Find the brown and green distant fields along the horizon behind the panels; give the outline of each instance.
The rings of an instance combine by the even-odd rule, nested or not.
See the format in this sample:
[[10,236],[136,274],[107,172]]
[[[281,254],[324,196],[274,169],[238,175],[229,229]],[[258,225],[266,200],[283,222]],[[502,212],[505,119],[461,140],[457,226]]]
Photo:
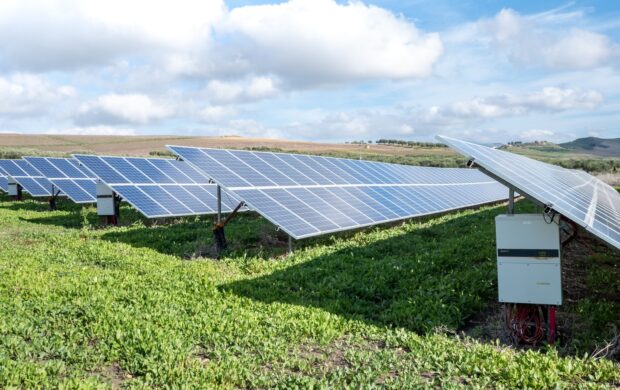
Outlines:
[[[324,156],[362,158],[398,164],[463,167],[465,158],[449,148],[397,146],[383,144],[346,144],[289,141],[243,137],[174,137],[174,136],[78,136],[0,134],[0,158],[23,155],[68,155],[95,153],[103,155],[172,155],[166,144],[212,148],[287,151]],[[620,158],[607,158],[550,147],[512,147],[511,152],[596,174],[611,174],[604,180],[620,184]]]

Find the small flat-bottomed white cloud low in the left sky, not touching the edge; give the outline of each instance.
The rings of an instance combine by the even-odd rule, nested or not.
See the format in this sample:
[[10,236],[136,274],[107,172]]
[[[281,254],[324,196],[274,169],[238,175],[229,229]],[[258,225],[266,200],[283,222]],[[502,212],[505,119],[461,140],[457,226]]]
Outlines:
[[173,114],[170,105],[141,94],[107,94],[80,108],[78,122],[147,124]]

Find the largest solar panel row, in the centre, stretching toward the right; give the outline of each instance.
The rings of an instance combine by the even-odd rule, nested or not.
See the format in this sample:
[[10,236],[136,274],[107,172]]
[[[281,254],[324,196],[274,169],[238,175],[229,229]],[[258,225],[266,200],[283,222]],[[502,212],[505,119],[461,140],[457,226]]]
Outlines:
[[168,146],[295,239],[506,199],[476,170]]

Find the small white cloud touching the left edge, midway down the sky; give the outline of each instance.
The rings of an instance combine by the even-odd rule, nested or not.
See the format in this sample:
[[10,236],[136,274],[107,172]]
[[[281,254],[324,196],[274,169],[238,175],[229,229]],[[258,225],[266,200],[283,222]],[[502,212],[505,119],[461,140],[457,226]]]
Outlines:
[[75,96],[73,87],[54,85],[32,74],[0,77],[0,114],[23,115],[47,111],[49,104]]

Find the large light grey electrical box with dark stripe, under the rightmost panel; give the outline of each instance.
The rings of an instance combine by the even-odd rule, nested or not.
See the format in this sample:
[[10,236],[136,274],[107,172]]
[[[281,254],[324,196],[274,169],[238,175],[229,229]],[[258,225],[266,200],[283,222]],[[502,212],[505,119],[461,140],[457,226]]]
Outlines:
[[542,214],[495,218],[499,301],[562,304],[560,228]]

